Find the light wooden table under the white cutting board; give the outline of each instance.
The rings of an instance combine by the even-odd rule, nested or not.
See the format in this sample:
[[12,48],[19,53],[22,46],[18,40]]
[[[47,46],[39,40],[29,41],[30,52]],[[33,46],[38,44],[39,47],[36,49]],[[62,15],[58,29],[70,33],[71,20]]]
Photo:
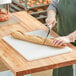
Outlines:
[[[76,47],[71,44],[69,44],[73,50],[71,53],[39,59],[31,62],[24,59],[22,56],[16,53],[13,48],[3,42],[2,37],[9,35],[15,30],[28,32],[38,29],[47,30],[47,28],[24,11],[13,13],[11,19],[12,20],[7,22],[0,23],[0,58],[15,76],[23,76],[25,74],[64,67],[76,63]],[[53,31],[52,35],[58,36]]]

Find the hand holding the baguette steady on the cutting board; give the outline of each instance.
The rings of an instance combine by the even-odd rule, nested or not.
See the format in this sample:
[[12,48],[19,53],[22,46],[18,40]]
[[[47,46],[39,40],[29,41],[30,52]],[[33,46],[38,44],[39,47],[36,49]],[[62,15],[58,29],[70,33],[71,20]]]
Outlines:
[[70,40],[67,36],[55,38],[53,41],[54,46],[62,46],[62,45],[65,45],[67,43],[70,43]]

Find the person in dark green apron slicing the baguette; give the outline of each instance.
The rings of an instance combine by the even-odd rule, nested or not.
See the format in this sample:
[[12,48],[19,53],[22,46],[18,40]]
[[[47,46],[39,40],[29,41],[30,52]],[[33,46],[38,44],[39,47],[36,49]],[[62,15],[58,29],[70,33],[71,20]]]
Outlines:
[[[58,21],[57,33],[62,37],[56,38],[53,44],[62,45],[73,42],[72,44],[76,45],[76,36],[74,37],[76,35],[76,0],[53,0],[48,7],[47,25],[52,24],[53,28],[56,24],[56,18]],[[73,76],[73,66],[54,69],[53,76]]]

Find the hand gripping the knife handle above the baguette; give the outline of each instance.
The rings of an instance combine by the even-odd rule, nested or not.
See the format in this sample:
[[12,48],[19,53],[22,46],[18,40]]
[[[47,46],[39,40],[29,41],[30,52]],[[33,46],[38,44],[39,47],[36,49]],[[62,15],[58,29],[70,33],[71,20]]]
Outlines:
[[56,24],[56,17],[55,14],[50,14],[46,19],[46,24],[49,27],[52,24],[52,27]]

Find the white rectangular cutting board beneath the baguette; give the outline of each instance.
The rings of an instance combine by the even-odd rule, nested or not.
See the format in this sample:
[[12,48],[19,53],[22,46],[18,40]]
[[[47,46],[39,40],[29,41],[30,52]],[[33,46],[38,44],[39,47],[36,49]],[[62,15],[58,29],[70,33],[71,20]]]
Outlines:
[[[28,32],[27,34],[33,34],[33,35],[45,37],[47,33],[43,30],[37,30],[37,31]],[[51,36],[49,36],[49,38],[50,37]],[[69,47],[53,48],[49,46],[38,45],[38,44],[14,39],[11,36],[3,37],[3,40],[6,41],[10,46],[12,46],[28,61],[69,53],[72,51],[72,49]]]

